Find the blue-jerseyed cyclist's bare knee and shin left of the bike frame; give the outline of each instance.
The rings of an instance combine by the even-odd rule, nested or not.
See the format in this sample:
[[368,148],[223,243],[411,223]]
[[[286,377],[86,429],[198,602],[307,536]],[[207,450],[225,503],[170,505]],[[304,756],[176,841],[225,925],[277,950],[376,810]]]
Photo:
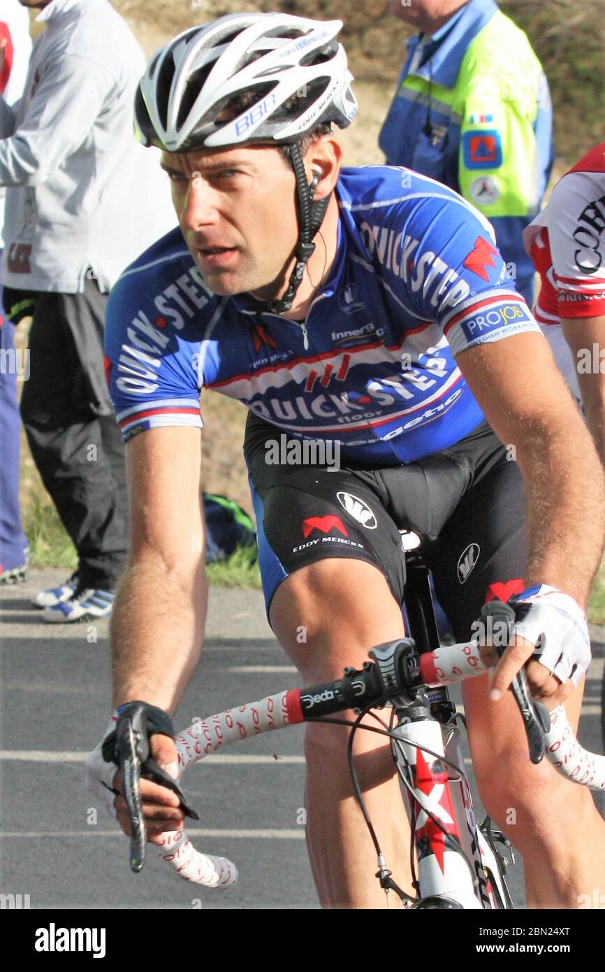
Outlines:
[[[270,614],[276,636],[307,685],[338,678],[347,665],[360,668],[373,644],[404,634],[385,577],[359,560],[322,560],[290,574],[278,587]],[[307,727],[307,844],[319,901],[323,908],[397,907],[395,895],[389,893],[387,900],[374,877],[376,851],[353,796],[348,733],[340,726]],[[387,865],[409,891],[409,826],[387,742],[359,731],[355,752]]]

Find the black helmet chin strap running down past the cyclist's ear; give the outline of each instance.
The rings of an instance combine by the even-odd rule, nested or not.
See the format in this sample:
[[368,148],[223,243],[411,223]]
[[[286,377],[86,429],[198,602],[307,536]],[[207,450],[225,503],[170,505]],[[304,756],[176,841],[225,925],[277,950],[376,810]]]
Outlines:
[[273,297],[270,300],[256,300],[250,294],[241,295],[241,299],[245,301],[247,309],[254,311],[256,314],[284,314],[292,306],[296,292],[305,275],[307,261],[315,250],[315,243],[312,242],[313,238],[323,222],[332,195],[330,192],[324,199],[313,201],[313,193],[319,182],[319,173],[314,173],[312,181],[308,183],[300,142],[294,142],[293,145],[288,145],[286,148],[296,177],[298,224],[300,227],[298,242],[294,250],[296,262],[290,274],[286,294],[283,297]]

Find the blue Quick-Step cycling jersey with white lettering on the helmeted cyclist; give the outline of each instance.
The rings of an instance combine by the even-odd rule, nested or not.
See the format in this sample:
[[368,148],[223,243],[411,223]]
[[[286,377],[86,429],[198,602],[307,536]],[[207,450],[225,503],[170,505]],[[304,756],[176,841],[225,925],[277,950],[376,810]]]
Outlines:
[[196,426],[202,388],[343,460],[413,462],[483,420],[455,356],[539,328],[506,279],[487,220],[408,169],[343,169],[338,250],[300,324],[205,287],[179,228],[118,280],[107,310],[124,438]]

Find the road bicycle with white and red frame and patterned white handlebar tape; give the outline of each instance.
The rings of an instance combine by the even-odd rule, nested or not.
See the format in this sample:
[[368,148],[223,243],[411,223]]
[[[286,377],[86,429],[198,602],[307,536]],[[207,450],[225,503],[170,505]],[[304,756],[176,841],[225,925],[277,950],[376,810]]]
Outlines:
[[[481,824],[477,822],[460,751],[464,717],[456,712],[446,687],[487,672],[479,641],[431,649],[431,645],[439,645],[439,638],[429,574],[418,551],[406,554],[406,578],[406,630],[413,637],[372,648],[360,671],[347,668],[339,679],[286,689],[196,722],[176,739],[180,768],[185,771],[223,746],[262,732],[308,721],[345,722],[352,727],[349,765],[353,789],[376,849],[376,876],[385,891],[398,895],[403,907],[411,909],[513,908],[505,881],[507,854],[512,856],[513,849],[489,817]],[[483,609],[476,630],[501,654],[513,637],[514,623],[514,609],[492,601]],[[549,713],[532,700],[523,671],[515,678],[512,691],[532,762],[540,762],[546,753],[569,780],[592,789],[605,789],[605,756],[580,746],[563,707]],[[140,704],[131,704],[137,705]],[[362,722],[377,708],[388,713],[388,721],[374,713],[373,725]],[[334,718],[350,710],[355,713],[353,720]],[[149,741],[141,729],[140,712],[130,712],[130,707],[121,712],[117,743],[132,825],[134,871],[143,867],[146,852],[138,777],[142,765],[145,770]],[[365,808],[353,761],[353,738],[361,729],[378,732],[390,741],[410,821],[414,896],[393,881]],[[197,819],[179,785],[172,786],[182,796],[185,816]],[[159,855],[185,881],[224,889],[238,880],[235,864],[225,857],[196,851],[185,830],[166,832],[163,837]]]

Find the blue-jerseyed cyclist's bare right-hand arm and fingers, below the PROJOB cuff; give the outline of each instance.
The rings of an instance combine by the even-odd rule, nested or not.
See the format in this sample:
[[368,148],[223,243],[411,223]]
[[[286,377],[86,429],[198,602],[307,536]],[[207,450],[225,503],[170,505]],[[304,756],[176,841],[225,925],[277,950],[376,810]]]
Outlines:
[[[581,606],[588,601],[605,535],[605,479],[592,439],[546,339],[516,334],[461,352],[457,364],[487,421],[521,467],[527,501],[527,586],[550,584]],[[492,687],[504,691],[533,653],[507,648]],[[534,694],[553,702],[560,685],[536,662],[527,668]]]

